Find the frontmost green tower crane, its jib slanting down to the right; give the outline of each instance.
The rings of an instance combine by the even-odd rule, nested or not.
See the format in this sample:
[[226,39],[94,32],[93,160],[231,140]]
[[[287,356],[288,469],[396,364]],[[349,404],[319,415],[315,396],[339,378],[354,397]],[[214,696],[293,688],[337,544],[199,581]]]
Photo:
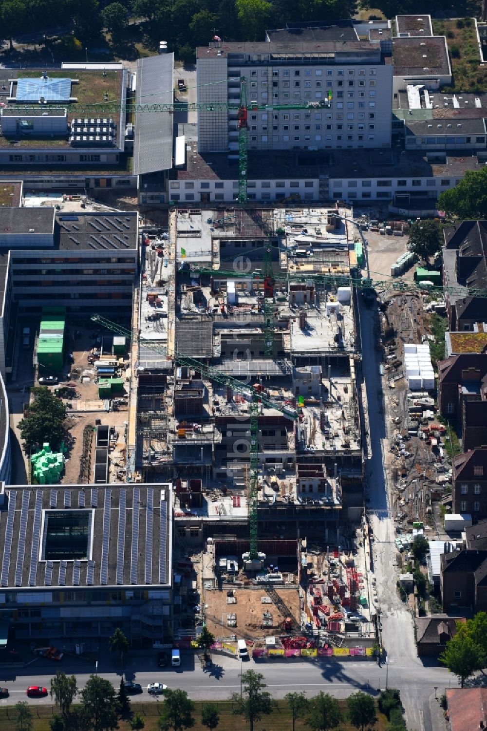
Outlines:
[[[121,336],[129,338],[132,341],[137,342],[139,345],[143,345],[159,355],[163,352],[156,344],[146,338],[141,338],[140,335],[132,333],[127,327],[119,325],[118,322],[112,322],[102,315],[94,314],[91,316],[94,322],[98,322],[99,325],[106,327],[107,330],[112,330],[114,333],[118,333]],[[296,420],[298,418],[298,411],[292,409],[290,406],[279,404],[273,401],[265,393],[260,393],[254,386],[243,383],[233,376],[227,376],[226,374],[220,373],[216,368],[202,363],[196,358],[183,355],[182,353],[175,352],[174,360],[179,366],[187,366],[197,371],[202,378],[210,379],[222,386],[230,386],[236,393],[243,395],[246,401],[249,401],[249,412],[250,412],[250,484],[249,484],[249,527],[250,527],[250,558],[257,558],[257,535],[258,535],[258,515],[257,515],[257,499],[259,493],[259,408],[260,404],[267,406],[269,409],[276,409],[277,411],[284,414],[284,417],[290,420]]]

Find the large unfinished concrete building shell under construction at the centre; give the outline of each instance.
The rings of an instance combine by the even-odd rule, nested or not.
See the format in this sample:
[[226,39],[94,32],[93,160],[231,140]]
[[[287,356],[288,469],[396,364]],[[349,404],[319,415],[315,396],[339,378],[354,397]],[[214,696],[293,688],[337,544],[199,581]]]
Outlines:
[[[346,575],[363,515],[350,286],[363,259],[347,214],[173,211],[168,234],[143,231],[127,480],[173,483],[176,549],[189,562],[175,635],[203,617],[226,640],[324,632],[359,607]],[[320,605],[301,586],[313,560],[302,564],[299,535],[328,559],[349,547],[338,575],[320,565],[314,581],[336,583],[314,593]]]

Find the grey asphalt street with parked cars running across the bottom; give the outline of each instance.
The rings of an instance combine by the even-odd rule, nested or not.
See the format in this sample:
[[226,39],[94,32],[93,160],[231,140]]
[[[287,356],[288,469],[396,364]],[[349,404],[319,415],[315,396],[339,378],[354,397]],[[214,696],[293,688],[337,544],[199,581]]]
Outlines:
[[[144,656],[131,656],[128,654],[124,664],[124,673],[127,679],[135,680],[143,686],[143,693],[137,696],[137,700],[148,701],[151,696],[147,693],[148,683],[161,682],[170,688],[181,688],[186,690],[193,700],[224,700],[234,692],[240,690],[241,666],[237,659],[228,656],[214,654],[214,664],[211,670],[202,670],[199,664],[193,663],[192,653],[182,653],[183,667],[181,670],[167,667],[159,670],[155,667],[154,658]],[[148,667],[150,666],[150,667]],[[139,668],[143,667],[143,670]],[[424,697],[425,688],[433,689],[434,685],[448,686],[448,673],[442,668],[430,667],[428,669],[428,681],[419,677],[421,665],[407,662],[396,662],[391,659],[386,668],[385,665],[378,667],[370,660],[363,661],[341,661],[333,659],[309,660],[273,660],[253,661],[243,663],[243,670],[252,668],[263,673],[268,689],[273,697],[282,698],[292,690],[303,690],[312,696],[320,690],[329,692],[336,697],[347,697],[357,690],[364,690],[377,693],[378,688],[385,687],[386,673],[388,675],[388,686],[401,688],[401,694],[412,697],[415,694]],[[0,705],[11,705],[18,700],[27,700],[32,705],[51,704],[49,696],[45,698],[26,698],[26,688],[29,685],[50,687],[50,678],[56,670],[63,670],[68,675],[74,673],[78,679],[78,688],[83,689],[88,680],[89,674],[95,672],[95,668],[87,667],[78,658],[66,657],[60,663],[54,663],[42,658],[34,659],[31,664],[24,667],[21,674],[12,674],[10,670],[0,670],[0,683],[10,691],[10,698],[0,700]],[[111,658],[107,658],[106,664],[100,662],[98,674],[107,678],[118,688],[120,684],[120,670],[113,667]],[[6,677],[4,677],[6,675]],[[426,676],[426,672],[425,672]],[[299,679],[299,680],[298,680]],[[426,683],[426,685],[425,685]],[[154,698],[152,698],[154,700]],[[408,724],[408,728],[415,728]]]

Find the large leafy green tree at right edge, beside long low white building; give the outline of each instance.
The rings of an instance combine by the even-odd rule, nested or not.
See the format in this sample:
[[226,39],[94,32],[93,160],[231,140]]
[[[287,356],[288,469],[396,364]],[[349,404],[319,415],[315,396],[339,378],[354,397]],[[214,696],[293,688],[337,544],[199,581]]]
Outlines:
[[454,188],[439,195],[437,207],[459,219],[487,218],[487,167],[467,170]]

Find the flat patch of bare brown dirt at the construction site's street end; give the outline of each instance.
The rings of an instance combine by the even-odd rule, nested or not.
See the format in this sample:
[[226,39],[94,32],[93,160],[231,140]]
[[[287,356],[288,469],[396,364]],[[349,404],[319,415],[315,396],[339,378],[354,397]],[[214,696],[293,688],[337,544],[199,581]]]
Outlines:
[[[261,597],[268,596],[265,588],[235,588],[234,596],[236,604],[227,604],[227,589],[223,591],[211,590],[205,592],[205,621],[209,631],[215,637],[230,637],[236,635],[241,639],[254,639],[255,637],[272,637],[282,632],[284,616],[279,609],[271,604],[263,604]],[[289,613],[286,616],[293,616],[299,624],[300,621],[300,599],[298,587],[276,588],[276,593],[281,597],[288,607]],[[262,627],[263,613],[269,612],[272,615],[271,627]],[[227,614],[234,613],[237,617],[237,626],[227,626]]]

